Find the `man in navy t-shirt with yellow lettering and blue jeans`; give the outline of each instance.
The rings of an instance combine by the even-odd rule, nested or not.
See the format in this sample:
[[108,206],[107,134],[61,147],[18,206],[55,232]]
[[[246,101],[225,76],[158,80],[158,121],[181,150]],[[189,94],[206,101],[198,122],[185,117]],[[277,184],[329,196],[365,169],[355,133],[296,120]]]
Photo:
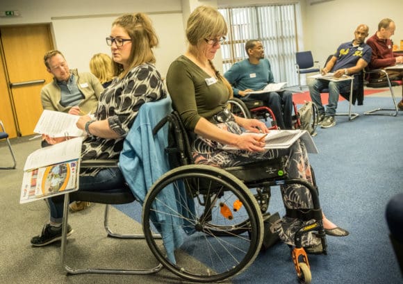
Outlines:
[[[340,78],[343,75],[352,76],[361,72],[367,67],[371,60],[372,50],[368,44],[364,43],[365,37],[368,37],[368,26],[360,24],[354,31],[354,40],[340,44],[334,56],[331,57],[327,65],[321,70],[322,75],[333,72],[334,77]],[[357,85],[358,78],[354,78],[354,87]],[[322,128],[329,128],[336,125],[336,114],[338,95],[340,92],[349,92],[351,81],[328,81],[316,78],[308,83],[311,99],[319,109],[319,124]],[[322,99],[320,99],[320,91],[324,88],[329,89],[329,103],[324,110]]]

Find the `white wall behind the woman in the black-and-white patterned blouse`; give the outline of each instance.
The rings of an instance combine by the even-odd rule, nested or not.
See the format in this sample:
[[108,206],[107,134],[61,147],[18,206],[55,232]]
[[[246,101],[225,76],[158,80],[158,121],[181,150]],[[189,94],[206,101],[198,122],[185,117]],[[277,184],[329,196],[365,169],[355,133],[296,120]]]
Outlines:
[[51,23],[55,46],[65,54],[69,67],[88,72],[94,53],[110,54],[105,37],[110,34],[114,19],[124,12],[146,12],[158,38],[156,66],[162,76],[186,47],[182,22],[181,0],[13,0],[0,10],[19,10],[19,17],[0,17],[0,26]]

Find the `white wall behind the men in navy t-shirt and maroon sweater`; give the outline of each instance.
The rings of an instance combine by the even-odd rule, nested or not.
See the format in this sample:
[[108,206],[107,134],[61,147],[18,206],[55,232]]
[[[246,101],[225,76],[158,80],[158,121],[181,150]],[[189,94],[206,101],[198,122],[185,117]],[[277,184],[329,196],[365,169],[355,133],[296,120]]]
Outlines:
[[315,60],[324,64],[342,42],[354,39],[359,24],[370,27],[370,36],[377,31],[378,23],[386,17],[396,24],[391,38],[398,47],[403,40],[403,1],[333,0],[315,5],[306,3],[304,15],[304,49],[311,50]]

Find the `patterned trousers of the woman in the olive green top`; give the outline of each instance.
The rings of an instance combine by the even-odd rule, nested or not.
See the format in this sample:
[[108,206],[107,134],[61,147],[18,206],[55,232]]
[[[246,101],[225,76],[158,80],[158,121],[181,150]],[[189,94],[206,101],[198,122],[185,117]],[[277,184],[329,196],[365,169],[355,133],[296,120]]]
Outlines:
[[[235,122],[217,124],[218,127],[240,134],[242,131]],[[193,143],[193,159],[196,164],[212,165],[215,167],[233,167],[245,165],[256,160],[270,160],[285,156],[286,172],[290,178],[303,178],[312,183],[311,167],[305,146],[299,140],[289,149],[270,149],[265,152],[249,152],[242,150],[222,150],[222,144],[197,136]],[[313,208],[311,194],[302,185],[281,185],[283,203],[288,208]],[[283,217],[272,226],[272,231],[279,233],[279,236],[286,244],[294,245],[295,232],[302,224],[313,223],[313,220],[302,222],[299,219]],[[320,239],[313,236],[313,233],[306,233],[302,236],[302,246],[309,247],[319,244]]]

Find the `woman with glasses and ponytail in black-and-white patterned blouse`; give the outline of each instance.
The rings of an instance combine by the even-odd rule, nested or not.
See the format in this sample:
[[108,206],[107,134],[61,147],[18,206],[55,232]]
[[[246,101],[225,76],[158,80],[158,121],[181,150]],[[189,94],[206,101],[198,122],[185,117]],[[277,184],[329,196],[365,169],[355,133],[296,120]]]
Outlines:
[[[76,123],[88,133],[83,140],[82,160],[119,158],[124,137],[142,104],[166,97],[163,80],[154,66],[152,49],[158,44],[158,38],[147,15],[126,14],[115,19],[106,43],[112,52],[117,77],[101,93],[94,119],[85,115]],[[47,137],[47,142],[57,141]],[[79,190],[102,191],[123,185],[124,178],[118,168],[80,172]],[[49,199],[50,223],[31,239],[33,246],[42,247],[61,239],[63,201],[64,196]],[[71,235],[72,228],[68,226],[67,230]]]

